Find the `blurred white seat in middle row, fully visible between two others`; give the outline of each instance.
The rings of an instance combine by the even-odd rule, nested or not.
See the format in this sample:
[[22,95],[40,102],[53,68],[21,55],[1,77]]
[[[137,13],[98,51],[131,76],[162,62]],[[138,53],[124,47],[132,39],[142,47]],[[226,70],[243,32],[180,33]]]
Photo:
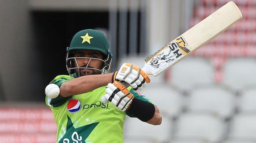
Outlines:
[[234,95],[221,86],[206,86],[191,90],[186,105],[189,112],[228,118],[234,113],[234,101]]

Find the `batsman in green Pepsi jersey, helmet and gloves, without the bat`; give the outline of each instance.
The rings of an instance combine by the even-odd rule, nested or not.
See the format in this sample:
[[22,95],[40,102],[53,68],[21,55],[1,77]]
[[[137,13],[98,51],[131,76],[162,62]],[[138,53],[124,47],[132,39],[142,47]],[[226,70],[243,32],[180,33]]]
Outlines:
[[112,56],[101,32],[85,29],[74,35],[67,48],[69,75],[50,82],[59,86],[56,98],[46,96],[57,124],[57,143],[123,143],[126,115],[161,124],[156,105],[137,92],[150,82],[148,75],[130,63],[108,73]]

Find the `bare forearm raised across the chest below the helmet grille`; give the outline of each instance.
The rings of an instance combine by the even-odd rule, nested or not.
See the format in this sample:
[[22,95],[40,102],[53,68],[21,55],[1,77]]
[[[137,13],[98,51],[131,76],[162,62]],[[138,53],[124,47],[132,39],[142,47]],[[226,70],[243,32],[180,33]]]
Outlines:
[[87,93],[96,88],[106,86],[108,83],[112,82],[112,75],[113,73],[89,75],[69,80],[61,84],[60,95],[62,97],[69,97],[72,95]]

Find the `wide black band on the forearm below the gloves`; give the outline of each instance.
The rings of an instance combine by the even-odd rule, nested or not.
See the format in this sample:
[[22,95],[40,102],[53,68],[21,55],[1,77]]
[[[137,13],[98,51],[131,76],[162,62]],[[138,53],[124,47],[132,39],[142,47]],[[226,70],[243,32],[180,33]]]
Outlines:
[[148,120],[154,117],[155,106],[146,101],[134,98],[132,99],[132,104],[130,105],[130,109],[128,109],[127,111],[129,111],[139,120],[143,122],[147,122]]

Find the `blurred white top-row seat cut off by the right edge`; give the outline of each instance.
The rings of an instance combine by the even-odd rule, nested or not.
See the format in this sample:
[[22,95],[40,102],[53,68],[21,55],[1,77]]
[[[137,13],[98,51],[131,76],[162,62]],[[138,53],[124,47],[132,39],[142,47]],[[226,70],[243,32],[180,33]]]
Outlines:
[[237,91],[256,84],[256,59],[230,58],[223,67],[223,84]]

